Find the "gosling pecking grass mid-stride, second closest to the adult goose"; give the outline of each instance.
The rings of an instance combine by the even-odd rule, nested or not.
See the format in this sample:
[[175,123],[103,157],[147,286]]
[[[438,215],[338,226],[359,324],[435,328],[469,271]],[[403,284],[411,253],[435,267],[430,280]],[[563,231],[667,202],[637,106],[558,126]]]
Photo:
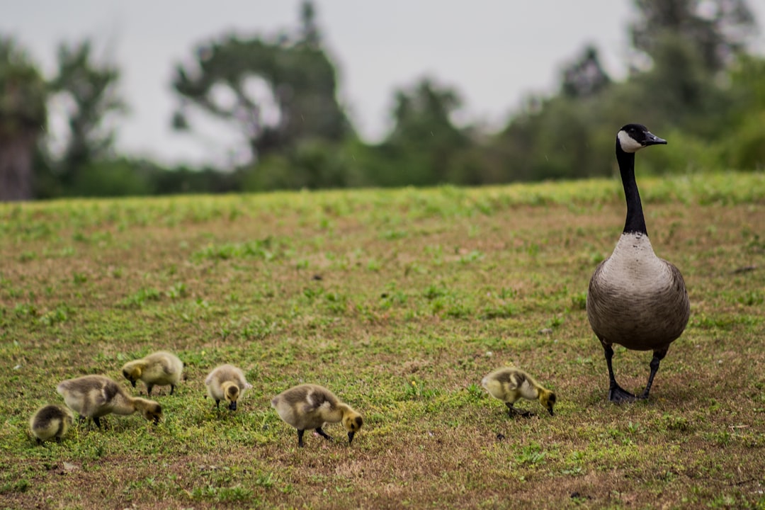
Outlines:
[[331,391],[318,385],[298,385],[272,398],[272,408],[282,420],[298,429],[298,447],[303,447],[303,432],[316,429],[317,434],[331,440],[321,427],[325,422],[343,422],[348,431],[348,445],[361,428],[361,415],[343,404]]

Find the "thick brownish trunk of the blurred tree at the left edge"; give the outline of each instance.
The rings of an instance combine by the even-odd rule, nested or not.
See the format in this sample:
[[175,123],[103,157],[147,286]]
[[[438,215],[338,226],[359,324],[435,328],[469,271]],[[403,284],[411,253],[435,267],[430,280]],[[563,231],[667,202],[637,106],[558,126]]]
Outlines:
[[0,133],[0,201],[31,200],[32,154],[37,135]]

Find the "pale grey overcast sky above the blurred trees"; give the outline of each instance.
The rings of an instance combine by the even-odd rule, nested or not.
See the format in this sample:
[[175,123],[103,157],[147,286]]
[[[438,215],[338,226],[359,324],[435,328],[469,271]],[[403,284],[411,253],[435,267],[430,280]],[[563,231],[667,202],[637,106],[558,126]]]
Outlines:
[[[367,141],[390,127],[392,92],[422,76],[453,86],[461,122],[502,125],[529,93],[552,93],[563,63],[584,44],[601,50],[611,76],[624,76],[631,0],[317,0],[317,21],[337,63],[340,100]],[[275,34],[298,24],[300,0],[21,0],[2,2],[0,34],[12,34],[54,72],[60,41],[92,37],[97,54],[122,70],[130,106],[119,151],[166,164],[226,164],[243,149],[233,132],[207,124],[173,132],[171,76],[194,47],[229,31]],[[749,5],[762,26],[765,0]],[[757,41],[762,51],[763,37]],[[60,122],[54,105],[50,129]],[[198,118],[192,119],[197,121]],[[197,122],[194,122],[197,126]],[[233,155],[234,154],[234,155]]]

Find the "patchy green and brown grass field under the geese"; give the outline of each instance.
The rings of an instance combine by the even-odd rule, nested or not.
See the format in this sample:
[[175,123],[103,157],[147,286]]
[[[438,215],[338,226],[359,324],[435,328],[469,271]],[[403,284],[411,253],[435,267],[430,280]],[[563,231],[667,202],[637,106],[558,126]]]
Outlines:
[[[0,507],[765,508],[765,176],[639,184],[691,320],[621,406],[584,311],[617,180],[0,205]],[[34,444],[58,382],[145,393],[120,369],[156,349],[187,373],[158,426]],[[617,349],[625,388],[649,360]],[[235,412],[203,398],[222,362],[253,385]],[[480,388],[509,362],[554,417]],[[269,401],[300,382],[363,414],[352,447],[298,449]]]

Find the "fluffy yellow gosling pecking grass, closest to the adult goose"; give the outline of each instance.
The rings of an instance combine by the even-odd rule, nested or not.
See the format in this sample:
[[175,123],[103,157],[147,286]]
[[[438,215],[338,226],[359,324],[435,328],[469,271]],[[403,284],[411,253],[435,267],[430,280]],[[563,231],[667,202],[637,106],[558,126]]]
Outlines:
[[547,409],[550,416],[553,416],[552,406],[555,405],[555,393],[543,388],[531,375],[521,369],[506,366],[495,370],[481,379],[480,384],[489,392],[489,395],[505,403],[507,414],[510,417],[516,413],[529,416],[529,411],[519,412],[513,408],[513,404],[521,398],[539,400],[542,407]]

